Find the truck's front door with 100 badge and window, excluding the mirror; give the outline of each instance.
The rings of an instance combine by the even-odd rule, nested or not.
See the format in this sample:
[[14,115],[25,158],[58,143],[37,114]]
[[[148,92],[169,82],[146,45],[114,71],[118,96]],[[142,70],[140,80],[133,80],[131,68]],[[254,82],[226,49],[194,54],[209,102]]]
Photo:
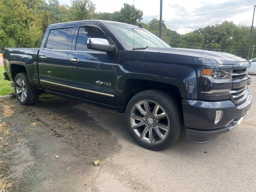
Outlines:
[[69,54],[70,94],[76,98],[108,107],[116,106],[117,54],[87,49],[88,38],[108,39],[98,22],[81,22],[76,27]]

